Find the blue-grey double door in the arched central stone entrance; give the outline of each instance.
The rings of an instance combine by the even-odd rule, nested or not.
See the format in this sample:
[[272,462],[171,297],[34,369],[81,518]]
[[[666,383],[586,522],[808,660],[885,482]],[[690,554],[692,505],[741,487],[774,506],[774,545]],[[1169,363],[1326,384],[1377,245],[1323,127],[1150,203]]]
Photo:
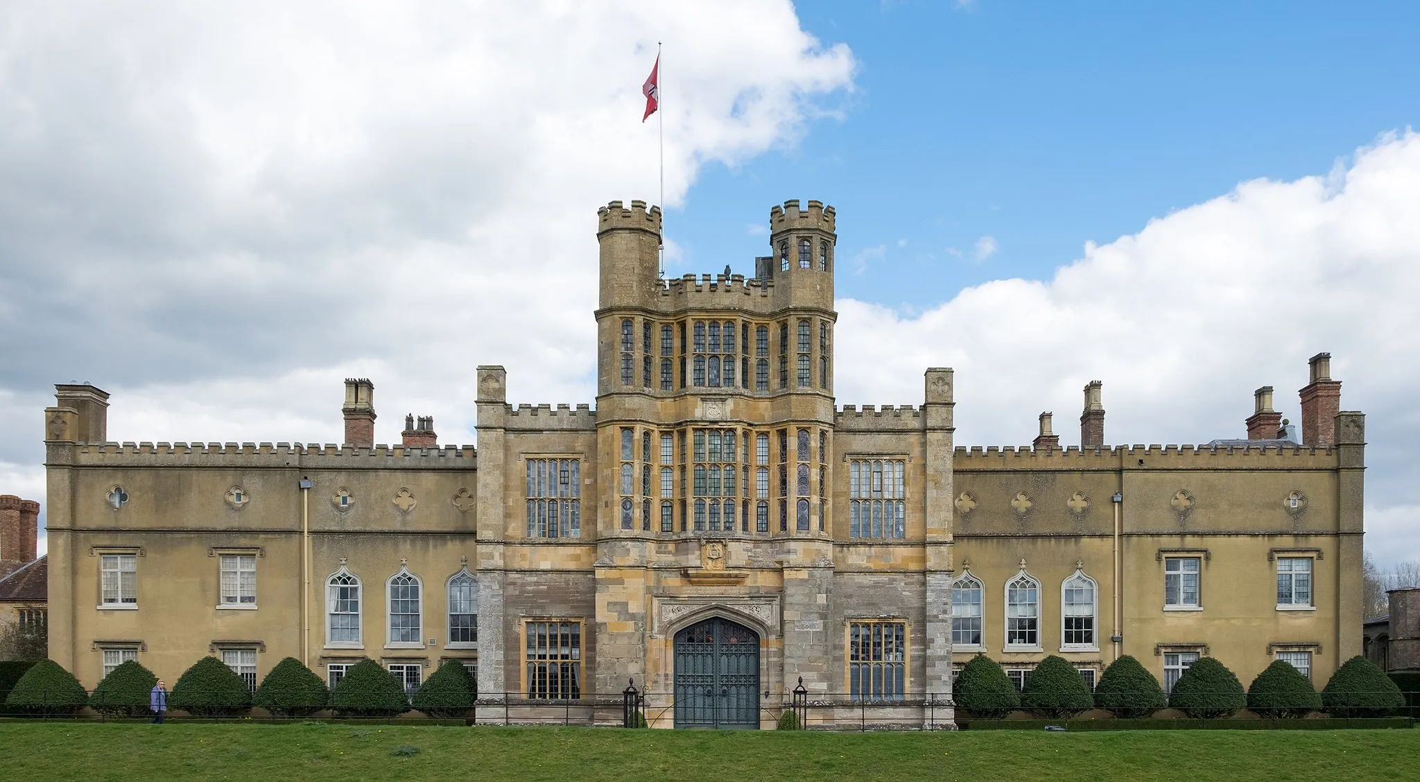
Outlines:
[[676,633],[676,727],[760,727],[760,634],[727,619]]

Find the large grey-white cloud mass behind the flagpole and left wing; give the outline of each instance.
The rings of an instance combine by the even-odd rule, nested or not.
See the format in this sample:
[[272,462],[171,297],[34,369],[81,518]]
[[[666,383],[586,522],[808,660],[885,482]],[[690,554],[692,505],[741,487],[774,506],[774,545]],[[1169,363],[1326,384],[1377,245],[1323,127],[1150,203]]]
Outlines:
[[408,410],[467,441],[479,363],[589,399],[595,210],[659,186],[656,43],[672,206],[855,68],[785,0],[36,1],[0,38],[0,491],[40,500],[54,382],[109,390],[119,440],[335,441],[348,373],[382,441]]

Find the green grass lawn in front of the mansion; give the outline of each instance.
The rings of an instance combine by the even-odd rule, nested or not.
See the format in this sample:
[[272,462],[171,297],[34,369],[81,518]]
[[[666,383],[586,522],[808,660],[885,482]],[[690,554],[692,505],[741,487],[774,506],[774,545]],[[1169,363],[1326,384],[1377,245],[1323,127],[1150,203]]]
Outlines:
[[[710,732],[436,725],[0,725],[6,779],[1413,779],[1420,731]],[[396,749],[406,748],[396,754]],[[408,748],[417,748],[410,752]]]

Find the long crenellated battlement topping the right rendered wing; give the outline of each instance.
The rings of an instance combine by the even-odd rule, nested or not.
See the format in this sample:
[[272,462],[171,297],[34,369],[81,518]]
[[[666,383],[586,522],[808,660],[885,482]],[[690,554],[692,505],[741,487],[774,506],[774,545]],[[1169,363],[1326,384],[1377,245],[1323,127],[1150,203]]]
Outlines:
[[1210,467],[1335,468],[1336,450],[1311,446],[1115,446],[1034,448],[958,446],[953,470],[1200,470]]

